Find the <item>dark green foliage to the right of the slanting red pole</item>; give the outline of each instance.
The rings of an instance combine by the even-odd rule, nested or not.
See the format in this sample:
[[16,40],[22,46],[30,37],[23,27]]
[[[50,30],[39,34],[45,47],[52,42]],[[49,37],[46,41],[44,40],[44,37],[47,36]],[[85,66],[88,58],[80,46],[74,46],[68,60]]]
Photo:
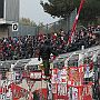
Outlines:
[[80,14],[81,22],[97,23],[99,16],[100,16],[100,0],[86,0],[86,3]]

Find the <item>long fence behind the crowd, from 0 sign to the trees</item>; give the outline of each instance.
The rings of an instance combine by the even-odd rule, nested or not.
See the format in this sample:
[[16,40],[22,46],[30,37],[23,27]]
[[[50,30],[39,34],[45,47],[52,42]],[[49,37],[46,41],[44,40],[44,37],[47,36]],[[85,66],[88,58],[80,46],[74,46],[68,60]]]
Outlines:
[[70,16],[68,16],[66,19],[60,19],[59,21],[56,21],[53,23],[49,23],[46,26],[41,24],[38,27],[19,24],[19,31],[18,32],[12,32],[11,27],[9,29],[9,32],[10,32],[10,36],[12,36],[12,37],[14,37],[14,36],[27,36],[27,34],[36,36],[39,32],[51,33],[51,32],[58,32],[60,29],[68,32],[72,28],[76,14],[77,14],[77,9],[73,10],[73,12]]

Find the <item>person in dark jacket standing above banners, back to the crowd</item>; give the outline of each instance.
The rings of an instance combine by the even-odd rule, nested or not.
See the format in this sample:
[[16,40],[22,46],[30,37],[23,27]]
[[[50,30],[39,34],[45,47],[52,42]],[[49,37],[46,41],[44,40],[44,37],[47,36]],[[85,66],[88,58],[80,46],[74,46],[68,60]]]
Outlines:
[[43,67],[44,67],[44,76],[46,77],[49,77],[50,76],[49,74],[49,70],[50,70],[49,59],[50,59],[50,54],[51,53],[54,54],[54,56],[57,56],[56,52],[52,50],[52,47],[50,44],[50,40],[47,39],[44,41],[44,43],[41,44],[41,47],[39,49],[39,59],[38,59],[38,60],[40,60],[40,58],[42,59]]

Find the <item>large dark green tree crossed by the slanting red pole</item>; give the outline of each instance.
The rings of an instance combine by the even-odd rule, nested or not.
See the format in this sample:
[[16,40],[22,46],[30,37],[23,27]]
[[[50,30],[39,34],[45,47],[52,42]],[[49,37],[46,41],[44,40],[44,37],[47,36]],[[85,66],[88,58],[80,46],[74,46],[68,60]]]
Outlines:
[[[51,17],[68,17],[76,8],[79,8],[81,0],[48,0],[48,2],[41,1],[44,12],[51,14]],[[82,11],[80,13],[81,22],[97,21],[97,17],[100,16],[100,0],[86,0]]]

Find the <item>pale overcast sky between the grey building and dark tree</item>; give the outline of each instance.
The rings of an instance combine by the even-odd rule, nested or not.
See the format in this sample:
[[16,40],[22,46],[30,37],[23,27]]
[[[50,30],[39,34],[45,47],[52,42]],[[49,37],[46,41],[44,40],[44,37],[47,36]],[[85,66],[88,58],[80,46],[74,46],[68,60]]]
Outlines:
[[43,11],[43,8],[40,6],[40,0],[20,0],[20,18],[22,17],[30,18],[37,24],[39,22],[47,24],[58,20]]

